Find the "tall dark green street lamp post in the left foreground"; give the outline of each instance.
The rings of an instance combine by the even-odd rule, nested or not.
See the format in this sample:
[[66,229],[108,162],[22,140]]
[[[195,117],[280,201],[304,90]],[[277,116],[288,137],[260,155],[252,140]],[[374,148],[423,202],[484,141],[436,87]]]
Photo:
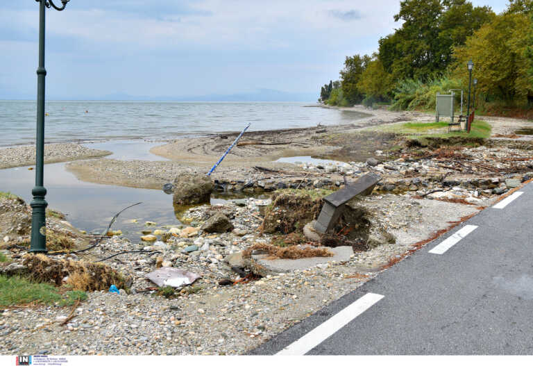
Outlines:
[[39,67],[37,68],[37,135],[35,139],[35,187],[31,190],[33,201],[31,213],[31,244],[33,253],[46,253],[46,206],[44,200],[46,188],[43,186],[44,170],[44,24],[46,8],[63,10],[69,0],[61,0],[62,6],[56,6],[52,0],[35,0],[39,3]]

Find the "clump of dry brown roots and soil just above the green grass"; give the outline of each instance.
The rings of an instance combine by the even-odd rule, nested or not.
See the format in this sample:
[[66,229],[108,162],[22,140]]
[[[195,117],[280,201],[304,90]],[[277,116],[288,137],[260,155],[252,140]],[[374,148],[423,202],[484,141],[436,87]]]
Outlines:
[[26,274],[34,281],[71,285],[74,290],[108,290],[110,285],[125,288],[124,277],[115,269],[101,263],[82,260],[54,259],[44,254],[26,254],[22,265],[28,268]]

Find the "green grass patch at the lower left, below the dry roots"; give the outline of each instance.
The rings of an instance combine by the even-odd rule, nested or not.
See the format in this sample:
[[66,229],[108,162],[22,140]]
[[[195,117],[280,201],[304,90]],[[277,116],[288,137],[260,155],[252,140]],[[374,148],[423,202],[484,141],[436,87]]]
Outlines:
[[48,283],[35,283],[19,276],[0,275],[0,306],[39,303],[42,305],[71,306],[77,299],[87,299],[83,291],[60,292]]

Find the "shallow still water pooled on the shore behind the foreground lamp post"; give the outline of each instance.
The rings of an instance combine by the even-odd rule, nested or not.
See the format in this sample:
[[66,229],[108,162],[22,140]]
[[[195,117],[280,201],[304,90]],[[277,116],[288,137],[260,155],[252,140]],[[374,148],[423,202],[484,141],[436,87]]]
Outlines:
[[[146,145],[145,145],[146,144]],[[96,144],[87,144],[96,149]],[[115,148],[114,155],[122,158],[146,159],[146,154],[153,143],[146,142],[101,142],[99,149],[110,150]],[[126,147],[125,149],[121,149]],[[158,156],[150,154],[158,160]],[[162,158],[161,158],[162,160]],[[176,218],[174,206],[172,205],[172,195],[165,194],[162,190],[146,190],[142,188],[127,188],[115,185],[99,185],[79,181],[74,174],[67,172],[66,163],[55,163],[44,165],[44,187],[46,201],[49,208],[59,210],[67,215],[67,220],[76,228],[92,231],[103,231],[110,222],[110,219],[123,208],[133,203],[142,201],[141,205],[129,208],[121,213],[117,222],[112,226],[113,230],[121,230],[126,238],[133,242],[138,242],[140,231],[144,229],[153,230],[164,225],[180,225]],[[28,167],[16,167],[10,169],[0,169],[0,191],[11,192],[22,197],[30,203],[33,197],[31,190],[35,185],[35,169],[28,170]],[[211,203],[224,203],[227,197],[223,195],[212,198]],[[137,222],[133,222],[137,220]],[[145,226],[145,222],[156,222],[157,226]]]

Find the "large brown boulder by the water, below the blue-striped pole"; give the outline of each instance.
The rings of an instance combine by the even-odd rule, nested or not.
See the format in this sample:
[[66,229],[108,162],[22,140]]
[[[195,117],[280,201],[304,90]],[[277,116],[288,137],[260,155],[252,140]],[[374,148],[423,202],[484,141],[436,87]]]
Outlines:
[[213,183],[210,177],[183,173],[174,181],[174,205],[209,203],[211,192],[213,192]]

